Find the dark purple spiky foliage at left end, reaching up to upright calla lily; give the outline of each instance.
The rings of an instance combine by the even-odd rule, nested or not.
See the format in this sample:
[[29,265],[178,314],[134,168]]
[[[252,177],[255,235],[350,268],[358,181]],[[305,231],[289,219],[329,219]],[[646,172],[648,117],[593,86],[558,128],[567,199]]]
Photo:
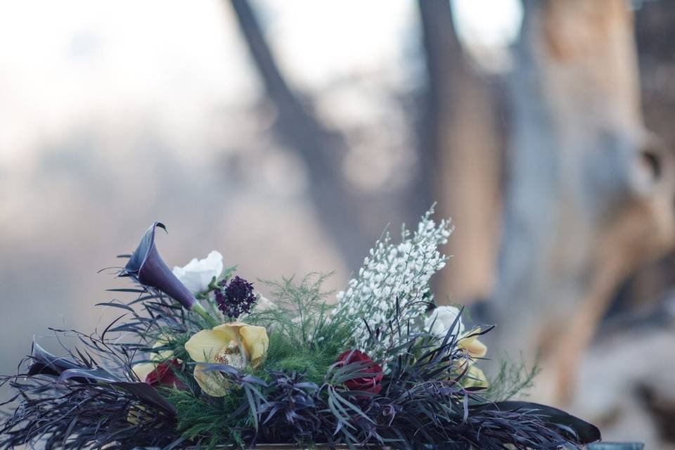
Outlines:
[[[51,329],[59,342],[74,338],[79,345],[72,350],[61,345],[65,356],[53,356],[34,344],[18,374],[1,378],[1,384],[18,393],[1,404],[15,409],[0,423],[0,449],[26,444],[47,449],[132,449],[184,441],[164,390],[141,383],[131,366],[143,362],[141,352],[179,347],[181,337],[204,328],[203,319],[143,286],[111,291],[138,297],[126,304],[115,300],[99,304],[124,311],[103,331],[86,335]],[[150,347],[160,336],[172,339],[166,346]]]

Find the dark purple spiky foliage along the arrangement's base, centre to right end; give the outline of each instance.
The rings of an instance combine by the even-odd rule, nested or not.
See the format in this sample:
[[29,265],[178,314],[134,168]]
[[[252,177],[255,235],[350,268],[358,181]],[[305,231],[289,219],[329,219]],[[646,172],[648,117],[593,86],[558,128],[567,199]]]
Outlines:
[[[331,366],[321,384],[297,372],[275,371],[265,381],[212,366],[228,377],[231,395],[211,401],[180,394],[183,429],[206,444],[371,444],[410,450],[579,449],[599,438],[592,425],[548,406],[486,401],[480,389],[462,387],[467,375],[454,367],[466,356],[451,350],[456,342],[448,340],[440,349],[430,349],[431,344],[431,338],[416,340],[404,356],[388,361],[391,371],[380,394],[345,388],[349,380],[367,375],[363,362]],[[188,420],[191,414],[200,416]]]

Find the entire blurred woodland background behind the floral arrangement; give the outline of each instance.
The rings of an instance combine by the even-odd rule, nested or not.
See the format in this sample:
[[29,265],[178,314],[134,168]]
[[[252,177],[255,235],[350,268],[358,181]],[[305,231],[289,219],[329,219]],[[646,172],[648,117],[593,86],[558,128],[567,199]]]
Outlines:
[[2,0],[0,372],[114,318],[155,219],[170,266],[339,289],[437,201],[489,356],[675,449],[673,120],[675,1]]

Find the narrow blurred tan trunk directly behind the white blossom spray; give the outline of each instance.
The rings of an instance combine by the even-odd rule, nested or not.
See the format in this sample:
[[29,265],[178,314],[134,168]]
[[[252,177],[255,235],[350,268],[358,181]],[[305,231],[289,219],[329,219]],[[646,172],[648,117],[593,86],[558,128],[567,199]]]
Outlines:
[[[428,91],[422,130],[426,197],[456,224],[435,291],[450,302],[490,294],[499,213],[501,148],[494,91],[465,60],[447,1],[419,1]],[[446,302],[442,297],[438,302]]]

